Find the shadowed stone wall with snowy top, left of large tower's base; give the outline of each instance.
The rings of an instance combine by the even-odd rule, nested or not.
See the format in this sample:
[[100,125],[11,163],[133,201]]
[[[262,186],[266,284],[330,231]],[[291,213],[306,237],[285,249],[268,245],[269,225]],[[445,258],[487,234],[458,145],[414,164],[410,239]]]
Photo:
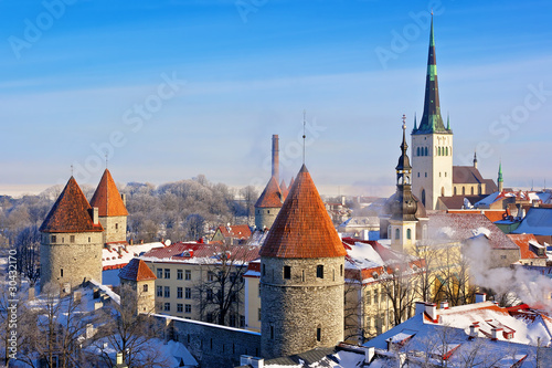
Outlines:
[[241,355],[261,353],[261,334],[199,320],[156,315],[169,322],[174,340],[182,343],[201,368],[232,368]]

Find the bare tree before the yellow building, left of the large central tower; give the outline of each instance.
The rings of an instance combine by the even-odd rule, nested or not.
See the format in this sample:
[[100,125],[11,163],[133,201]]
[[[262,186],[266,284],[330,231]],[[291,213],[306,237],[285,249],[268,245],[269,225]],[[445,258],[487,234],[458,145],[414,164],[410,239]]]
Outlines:
[[202,280],[195,286],[203,319],[219,325],[241,325],[240,305],[245,286],[243,275],[247,271],[244,256],[248,249],[232,245],[230,241],[215,245],[212,264],[203,265]]

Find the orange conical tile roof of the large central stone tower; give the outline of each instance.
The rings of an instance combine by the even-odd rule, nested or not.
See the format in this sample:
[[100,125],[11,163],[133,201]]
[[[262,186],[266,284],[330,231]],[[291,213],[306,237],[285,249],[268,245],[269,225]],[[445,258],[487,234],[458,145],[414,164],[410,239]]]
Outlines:
[[305,165],[289,190],[259,254],[294,259],[347,255]]

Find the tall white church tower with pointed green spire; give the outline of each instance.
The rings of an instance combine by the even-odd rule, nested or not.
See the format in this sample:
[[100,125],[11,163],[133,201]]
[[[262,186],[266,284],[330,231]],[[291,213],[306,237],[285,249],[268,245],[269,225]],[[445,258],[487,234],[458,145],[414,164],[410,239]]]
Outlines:
[[412,190],[428,210],[434,210],[439,197],[453,196],[453,130],[445,127],[440,115],[435,39],[429,33],[429,53],[425,82],[424,115],[412,130]]

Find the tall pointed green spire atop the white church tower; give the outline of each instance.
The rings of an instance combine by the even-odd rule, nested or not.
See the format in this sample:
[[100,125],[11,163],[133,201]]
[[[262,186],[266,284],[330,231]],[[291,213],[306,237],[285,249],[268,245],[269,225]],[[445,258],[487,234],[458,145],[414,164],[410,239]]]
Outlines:
[[437,83],[437,62],[435,57],[435,38],[432,30],[429,33],[429,52],[427,56],[427,76],[425,81],[424,114],[420,122],[418,134],[427,133],[449,133],[449,127],[445,128],[440,116],[439,88]]

